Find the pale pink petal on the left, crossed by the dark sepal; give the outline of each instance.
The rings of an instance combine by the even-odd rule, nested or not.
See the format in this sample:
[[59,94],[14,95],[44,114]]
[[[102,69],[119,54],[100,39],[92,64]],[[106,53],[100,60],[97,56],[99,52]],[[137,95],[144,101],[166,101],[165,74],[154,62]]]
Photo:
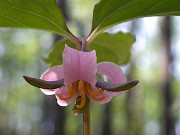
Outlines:
[[[64,73],[62,70],[62,66],[55,66],[48,70],[46,70],[42,75],[41,79],[45,81],[56,81],[62,79],[64,77]],[[59,89],[41,89],[41,91],[46,95],[53,95]]]

